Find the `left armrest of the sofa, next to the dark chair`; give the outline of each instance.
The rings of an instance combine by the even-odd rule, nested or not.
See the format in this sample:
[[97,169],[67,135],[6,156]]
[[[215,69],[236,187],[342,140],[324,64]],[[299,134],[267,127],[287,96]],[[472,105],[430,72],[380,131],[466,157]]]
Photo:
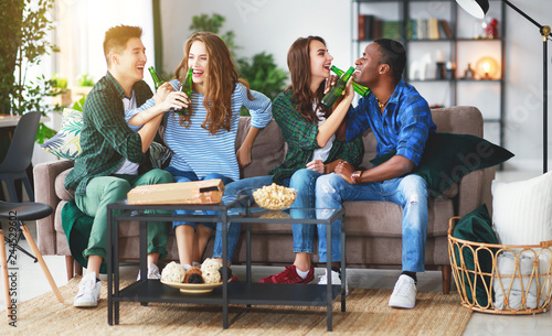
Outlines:
[[36,220],[36,242],[44,256],[56,254],[55,209],[60,198],[55,194],[55,177],[73,166],[73,161],[62,160],[36,164],[34,174],[34,198],[39,203],[50,205],[52,215]]

